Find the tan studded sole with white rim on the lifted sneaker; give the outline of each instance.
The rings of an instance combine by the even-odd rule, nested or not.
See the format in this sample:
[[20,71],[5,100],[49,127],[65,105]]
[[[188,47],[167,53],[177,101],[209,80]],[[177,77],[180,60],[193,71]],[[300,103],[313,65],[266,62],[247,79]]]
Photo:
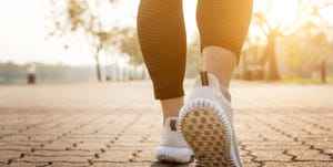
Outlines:
[[241,166],[230,149],[232,129],[228,117],[214,102],[195,98],[185,104],[180,114],[180,131],[193,149],[196,166]]

